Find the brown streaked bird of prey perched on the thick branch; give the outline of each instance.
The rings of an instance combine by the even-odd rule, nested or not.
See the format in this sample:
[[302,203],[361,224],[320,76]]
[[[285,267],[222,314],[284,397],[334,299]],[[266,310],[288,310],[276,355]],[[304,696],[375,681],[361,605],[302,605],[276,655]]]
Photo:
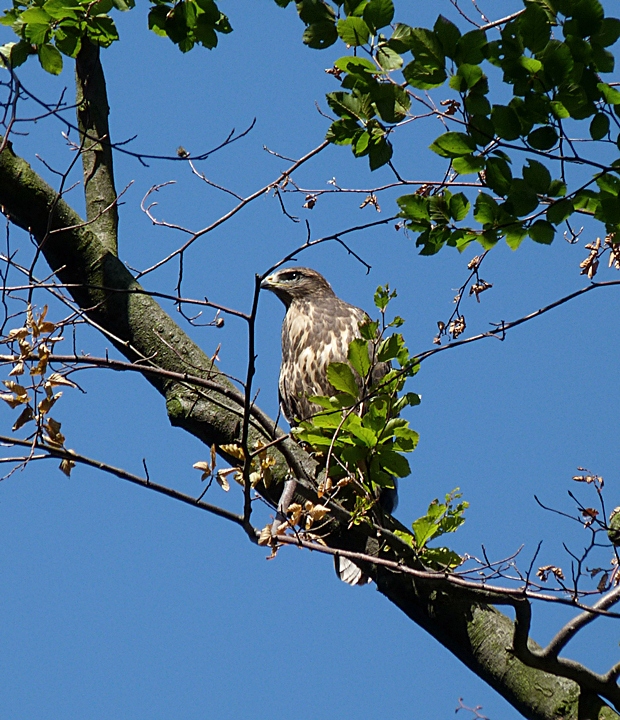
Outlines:
[[[275,293],[286,307],[282,323],[280,405],[284,417],[295,426],[321,409],[308,397],[336,394],[327,380],[327,367],[333,362],[347,362],[349,344],[360,337],[359,323],[368,316],[337,297],[327,280],[311,268],[278,270],[265,278],[261,287]],[[379,363],[373,372],[373,382],[378,382],[388,369],[386,363]],[[381,493],[380,503],[387,512],[392,512],[396,501],[396,489]],[[337,561],[336,572],[341,580],[352,585],[365,581],[356,565],[345,558]]]

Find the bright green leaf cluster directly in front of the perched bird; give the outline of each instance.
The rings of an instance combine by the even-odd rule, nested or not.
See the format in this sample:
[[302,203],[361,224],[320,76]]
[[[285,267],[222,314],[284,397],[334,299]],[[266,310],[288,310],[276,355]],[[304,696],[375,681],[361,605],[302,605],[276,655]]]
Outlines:
[[334,394],[309,398],[320,410],[294,430],[325,460],[327,483],[321,491],[352,489],[358,521],[367,517],[384,489],[394,488],[395,478],[410,474],[406,454],[418,443],[418,433],[400,417],[407,406],[418,405],[420,397],[402,392],[417,365],[403,336],[390,332],[402,320],[385,323],[384,312],[393,296],[387,288],[377,291],[382,322],[360,323],[361,337],[350,343],[348,362],[328,367]]

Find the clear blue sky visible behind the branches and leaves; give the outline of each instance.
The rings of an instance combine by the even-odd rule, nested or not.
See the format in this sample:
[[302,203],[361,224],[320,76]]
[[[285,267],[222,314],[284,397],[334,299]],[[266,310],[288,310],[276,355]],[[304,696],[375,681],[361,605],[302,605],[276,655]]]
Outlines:
[[[613,3],[604,4],[613,11]],[[256,118],[248,137],[201,165],[211,180],[244,195],[287,166],[263,146],[300,157],[321,142],[328,121],[314,103],[326,108],[324,95],[337,82],[324,69],[344,52],[339,45],[325,52],[302,46],[303,26],[292,7],[268,0],[221,6],[234,32],[221,37],[216,50],[196,48],[188,55],[147,31],[143,7],[117,15],[121,42],[103,53],[112,135],[116,141],[137,135],[131,147],[148,153],[174,154],[183,145],[198,154]],[[485,7],[500,17],[519,6],[496,0]],[[397,19],[411,25],[430,26],[440,12],[463,26],[447,0],[397,4]],[[0,41],[10,39],[10,31],[0,29]],[[51,78],[30,61],[20,75],[50,101],[63,87],[72,89],[70,69]],[[45,120],[28,137],[14,138],[15,150],[51,178],[35,153],[66,167],[63,129]],[[426,121],[402,133],[396,162],[406,176],[439,176],[443,164],[427,147],[441,132],[437,121]],[[132,267],[150,265],[181,241],[141,212],[152,185],[176,180],[157,195],[157,213],[193,229],[235,202],[181,163],[144,168],[120,154],[115,162],[118,189],[133,183],[124,196],[120,234],[122,257]],[[343,187],[391,179],[385,169],[371,175],[349,149],[329,148],[296,180],[319,189],[332,177]],[[78,209],[79,193],[67,198]],[[393,213],[394,197],[380,198],[381,216]],[[302,208],[303,195],[286,197],[290,212],[311,223],[313,237],[378,218],[372,207],[359,209],[362,199],[325,197],[309,211]],[[520,317],[586,284],[579,262],[596,232],[586,227],[576,246],[560,238],[551,247],[526,241],[516,253],[495,248],[482,272],[493,289],[480,305],[469,300],[464,306],[468,332]],[[277,200],[265,195],[194,245],[184,294],[248,309],[254,274],[305,236],[303,222],[285,218]],[[23,240],[17,232],[13,237]],[[467,262],[480,251],[420,257],[393,225],[356,234],[351,246],[372,265],[369,275],[336,244],[299,261],[367,309],[375,287],[389,282],[398,290],[395,311],[406,319],[404,332],[416,352],[432,346],[437,321],[450,315]],[[616,276],[606,271],[603,277]],[[144,285],[173,292],[174,279],[174,270],[164,269]],[[397,516],[409,523],[434,497],[459,486],[471,507],[454,538],[456,550],[478,555],[483,544],[500,558],[524,545],[527,565],[544,540],[539,564],[568,572],[562,541],[578,549],[586,534],[540,510],[533,496],[570,510],[567,490],[574,490],[592,504],[571,482],[582,465],[605,477],[608,506],[620,504],[617,311],[617,291],[598,290],[514,330],[503,343],[486,340],[425,363],[411,381],[410,389],[423,396],[410,417],[421,439]],[[256,388],[259,404],[272,415],[282,314],[275,297],[261,298]],[[244,373],[240,322],[228,319],[221,330],[191,334],[207,352],[221,343],[222,368]],[[105,343],[84,332],[78,349],[101,354]],[[87,393],[67,391],[57,413],[69,447],[136,473],[145,458],[153,480],[200,492],[192,464],[207,451],[170,428],[161,398],[144,380],[91,370],[81,383]],[[13,420],[8,407],[0,408],[3,433]],[[210,494],[213,502],[240,506],[236,486],[230,497],[217,487]],[[68,479],[54,463],[33,463],[0,484],[0,547],[2,718],[447,718],[459,697],[482,705],[490,718],[518,717],[373,585],[339,583],[328,558],[288,548],[266,562],[264,549],[236,527],[94,470],[78,467]],[[567,619],[544,607],[535,616],[539,642]],[[604,670],[617,660],[617,640],[609,622],[599,626],[570,645],[569,654]]]

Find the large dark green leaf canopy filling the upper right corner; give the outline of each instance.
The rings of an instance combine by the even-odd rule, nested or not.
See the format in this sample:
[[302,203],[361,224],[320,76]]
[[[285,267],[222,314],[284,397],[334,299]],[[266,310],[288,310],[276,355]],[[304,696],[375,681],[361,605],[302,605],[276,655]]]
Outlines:
[[[310,47],[340,38],[354,48],[334,64],[341,89],[327,95],[337,116],[327,139],[368,156],[372,170],[391,160],[389,136],[412,117],[416,90],[447,85],[458,93],[450,110],[437,111],[458,127],[430,149],[449,162],[450,178],[476,175],[482,191],[468,198],[440,186],[398,199],[423,254],[472,241],[489,249],[502,238],[513,249],[528,236],[550,244],[574,214],[594,217],[608,235],[617,232],[620,91],[603,75],[614,71],[610,47],[620,20],[605,17],[599,0],[523,0],[523,11],[493,37],[481,29],[462,33],[443,16],[432,29],[395,23],[392,0],[296,5]],[[493,102],[485,64],[501,70],[512,95],[507,102]],[[606,165],[577,154],[567,120],[571,128],[587,123],[586,140],[607,143]],[[569,189],[571,163],[595,172]],[[467,223],[470,214],[476,225]]]

